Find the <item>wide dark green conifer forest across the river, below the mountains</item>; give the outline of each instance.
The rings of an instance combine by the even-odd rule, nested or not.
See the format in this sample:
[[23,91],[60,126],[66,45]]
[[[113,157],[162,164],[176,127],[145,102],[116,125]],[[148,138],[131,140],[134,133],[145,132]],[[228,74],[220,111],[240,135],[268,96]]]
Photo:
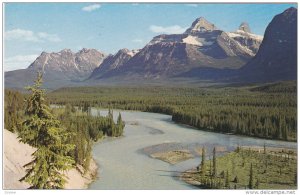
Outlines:
[[58,105],[88,103],[170,114],[173,121],[201,130],[297,140],[297,94],[293,90],[265,93],[251,89],[76,87],[56,90],[48,97]]

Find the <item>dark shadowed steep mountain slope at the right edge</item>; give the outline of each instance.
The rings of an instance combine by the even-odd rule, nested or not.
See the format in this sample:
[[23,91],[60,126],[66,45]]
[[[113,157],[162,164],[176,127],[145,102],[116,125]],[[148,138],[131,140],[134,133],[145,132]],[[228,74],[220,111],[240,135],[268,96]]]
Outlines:
[[276,15],[256,56],[236,75],[238,80],[270,82],[297,79],[297,9]]

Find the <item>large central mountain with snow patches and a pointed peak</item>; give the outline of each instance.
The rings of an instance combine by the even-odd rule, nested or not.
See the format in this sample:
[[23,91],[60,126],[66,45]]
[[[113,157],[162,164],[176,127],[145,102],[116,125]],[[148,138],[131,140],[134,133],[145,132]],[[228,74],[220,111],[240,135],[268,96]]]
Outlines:
[[[200,17],[183,34],[158,35],[126,60],[118,54],[111,56],[91,78],[134,75],[158,79],[188,76],[189,71],[199,68],[238,69],[256,54],[262,41],[261,36],[247,30],[227,33]],[[115,63],[117,56],[122,63]],[[114,68],[104,71],[108,66]]]

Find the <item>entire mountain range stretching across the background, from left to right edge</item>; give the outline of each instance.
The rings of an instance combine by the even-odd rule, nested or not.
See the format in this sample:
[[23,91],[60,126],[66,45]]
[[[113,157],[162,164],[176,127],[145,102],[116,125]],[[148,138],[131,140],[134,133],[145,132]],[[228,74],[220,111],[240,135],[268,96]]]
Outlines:
[[270,82],[297,78],[297,9],[276,15],[264,36],[251,33],[246,22],[225,32],[205,18],[197,18],[182,34],[162,34],[139,50],[121,49],[105,55],[95,49],[77,53],[65,49],[43,52],[27,69],[5,73],[5,87],[32,83],[44,72],[45,86],[143,84],[176,85],[193,82]]

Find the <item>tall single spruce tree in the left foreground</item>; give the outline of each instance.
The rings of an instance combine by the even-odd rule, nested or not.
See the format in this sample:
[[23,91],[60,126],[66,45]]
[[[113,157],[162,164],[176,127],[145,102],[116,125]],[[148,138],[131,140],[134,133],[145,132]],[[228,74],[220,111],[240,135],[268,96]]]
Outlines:
[[63,172],[74,164],[73,158],[68,155],[74,145],[66,143],[70,134],[45,104],[41,84],[42,74],[38,73],[35,84],[27,87],[31,95],[26,100],[27,119],[22,123],[19,138],[37,150],[32,154],[33,160],[24,165],[26,175],[20,181],[28,182],[31,189],[61,189],[66,183]]

